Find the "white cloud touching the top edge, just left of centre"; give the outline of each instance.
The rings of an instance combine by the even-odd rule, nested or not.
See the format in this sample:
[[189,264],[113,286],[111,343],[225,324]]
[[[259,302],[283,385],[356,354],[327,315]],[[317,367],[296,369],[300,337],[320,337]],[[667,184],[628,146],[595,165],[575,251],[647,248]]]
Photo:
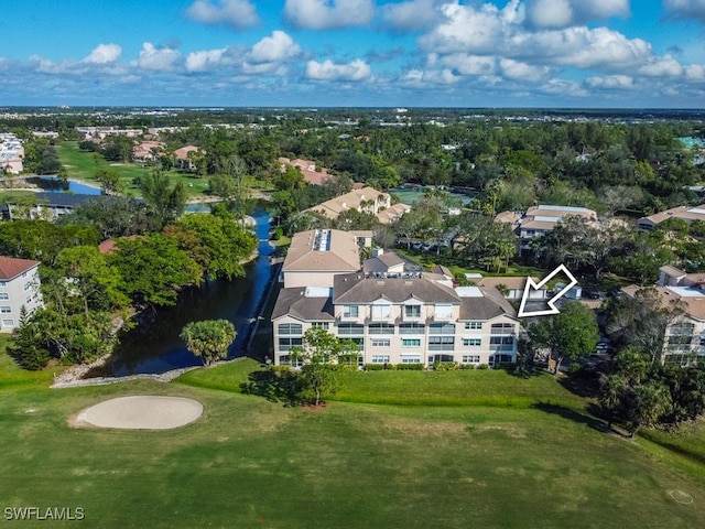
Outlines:
[[284,6],[286,21],[308,30],[367,25],[373,15],[373,0],[286,0]]

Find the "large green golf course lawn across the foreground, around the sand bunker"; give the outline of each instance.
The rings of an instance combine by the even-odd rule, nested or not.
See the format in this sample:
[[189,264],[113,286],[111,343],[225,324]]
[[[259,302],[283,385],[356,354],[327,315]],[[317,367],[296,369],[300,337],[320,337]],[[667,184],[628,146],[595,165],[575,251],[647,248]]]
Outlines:
[[[98,528],[705,527],[702,463],[604,433],[551,377],[348,374],[340,400],[311,411],[240,395],[256,368],[48,390],[51,373],[21,373],[0,354],[3,512],[83,507]],[[137,393],[195,398],[205,413],[164,432],[67,422]]]

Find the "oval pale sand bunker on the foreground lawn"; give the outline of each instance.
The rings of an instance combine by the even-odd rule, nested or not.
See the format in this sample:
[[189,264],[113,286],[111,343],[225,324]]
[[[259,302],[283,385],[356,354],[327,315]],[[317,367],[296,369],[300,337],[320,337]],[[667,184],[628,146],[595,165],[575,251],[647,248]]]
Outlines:
[[106,400],[80,411],[77,427],[167,430],[195,421],[203,404],[181,397],[133,396]]

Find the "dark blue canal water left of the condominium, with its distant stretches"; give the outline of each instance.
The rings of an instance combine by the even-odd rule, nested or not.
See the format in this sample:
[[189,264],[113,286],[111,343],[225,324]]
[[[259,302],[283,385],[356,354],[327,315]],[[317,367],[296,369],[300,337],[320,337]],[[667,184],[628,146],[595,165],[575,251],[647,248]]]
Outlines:
[[[99,195],[100,190],[80,182],[67,184],[54,177],[31,179],[46,192]],[[202,210],[209,210],[202,208]],[[189,322],[200,320],[228,320],[237,331],[228,357],[243,355],[243,346],[253,319],[272,281],[271,256],[274,248],[269,244],[270,215],[257,208],[254,219],[259,240],[258,258],[246,266],[246,276],[232,281],[208,281],[197,289],[184,291],[173,307],[145,311],[140,323],[121,333],[120,344],[108,363],[94,369],[89,377],[122,377],[135,374],[159,374],[182,367],[199,366],[200,358],[189,353],[178,338],[182,328]]]

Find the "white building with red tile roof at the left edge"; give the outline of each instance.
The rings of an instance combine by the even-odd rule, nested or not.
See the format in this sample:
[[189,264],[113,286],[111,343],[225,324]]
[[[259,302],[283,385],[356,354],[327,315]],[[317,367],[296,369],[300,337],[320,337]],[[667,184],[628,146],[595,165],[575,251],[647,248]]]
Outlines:
[[19,325],[22,306],[28,313],[43,306],[40,292],[40,261],[0,256],[0,332]]

